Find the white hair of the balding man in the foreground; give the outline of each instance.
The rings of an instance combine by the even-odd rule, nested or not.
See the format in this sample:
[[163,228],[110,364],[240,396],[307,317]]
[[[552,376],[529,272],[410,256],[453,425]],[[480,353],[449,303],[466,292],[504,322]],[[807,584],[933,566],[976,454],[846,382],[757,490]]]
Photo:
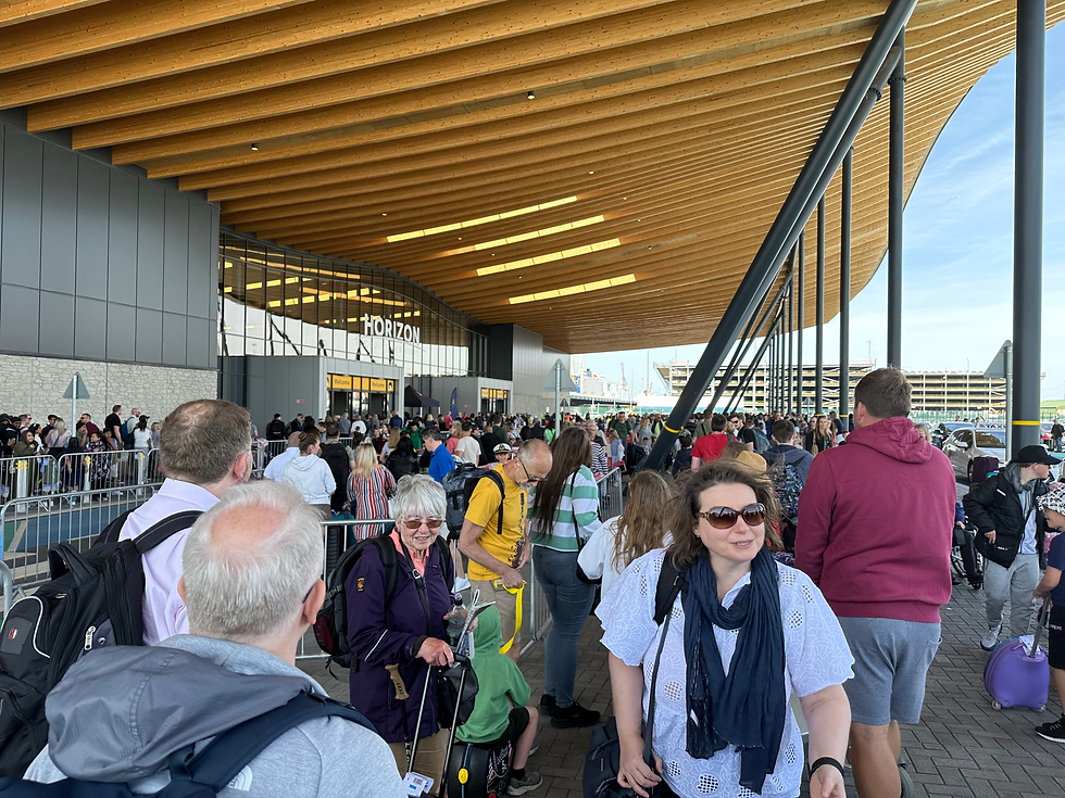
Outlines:
[[[273,510],[280,521],[253,546],[234,543],[218,519],[242,508]],[[295,487],[268,480],[231,487],[185,542],[189,632],[247,643],[284,631],[322,578],[322,540],[321,516]]]

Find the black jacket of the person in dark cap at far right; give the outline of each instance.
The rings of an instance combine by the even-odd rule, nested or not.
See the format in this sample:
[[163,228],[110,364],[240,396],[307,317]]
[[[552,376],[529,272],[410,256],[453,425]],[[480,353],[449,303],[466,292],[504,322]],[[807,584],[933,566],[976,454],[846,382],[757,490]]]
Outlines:
[[[1017,490],[1010,479],[1011,467],[988,478],[970,490],[962,498],[965,516],[976,527],[976,547],[980,554],[1003,568],[1013,565],[1020,550],[1025,534],[1025,515]],[[1032,487],[1032,507],[1036,514],[1036,552],[1039,567],[1043,567],[1043,536],[1047,532],[1047,518],[1036,501],[1047,493],[1047,483],[1037,480]],[[994,530],[994,543],[989,543],[986,533]]]

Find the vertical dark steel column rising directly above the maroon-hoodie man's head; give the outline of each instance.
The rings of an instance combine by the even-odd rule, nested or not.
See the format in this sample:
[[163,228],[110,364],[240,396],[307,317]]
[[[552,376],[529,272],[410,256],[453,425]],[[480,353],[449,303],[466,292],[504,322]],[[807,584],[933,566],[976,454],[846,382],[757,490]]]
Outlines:
[[888,365],[902,368],[902,210],[905,177],[906,51],[905,31],[897,45],[902,50],[891,87],[888,121]]

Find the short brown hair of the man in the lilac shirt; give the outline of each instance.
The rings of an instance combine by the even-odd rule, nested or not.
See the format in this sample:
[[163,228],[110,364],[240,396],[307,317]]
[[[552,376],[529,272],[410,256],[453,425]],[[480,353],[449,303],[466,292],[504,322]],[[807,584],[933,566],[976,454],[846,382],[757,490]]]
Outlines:
[[251,414],[224,400],[193,400],[175,407],[159,432],[160,467],[167,477],[209,485],[251,452]]

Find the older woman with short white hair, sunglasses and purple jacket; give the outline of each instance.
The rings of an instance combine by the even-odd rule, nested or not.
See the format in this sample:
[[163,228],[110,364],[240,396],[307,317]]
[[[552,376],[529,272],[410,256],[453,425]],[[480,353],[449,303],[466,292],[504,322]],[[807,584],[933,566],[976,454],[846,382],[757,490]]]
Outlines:
[[[433,545],[446,515],[443,487],[430,477],[404,477],[392,502],[396,529],[385,539],[396,549],[396,587],[385,601],[385,567],[380,552],[368,545],[344,582],[348,597],[348,643],[358,657],[351,668],[351,704],[388,743],[400,773],[408,771],[408,750],[418,740],[413,770],[440,783],[448,731],[440,729],[437,692],[429,684],[422,725],[417,726],[425,680],[430,666],[450,664],[446,642],[452,608],[454,567],[441,561]],[[386,666],[398,666],[406,697]]]

